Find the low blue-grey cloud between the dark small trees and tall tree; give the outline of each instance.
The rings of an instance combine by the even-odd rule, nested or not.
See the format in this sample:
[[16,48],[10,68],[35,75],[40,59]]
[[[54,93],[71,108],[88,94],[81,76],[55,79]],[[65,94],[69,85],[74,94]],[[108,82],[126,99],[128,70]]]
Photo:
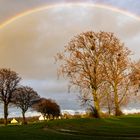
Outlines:
[[68,81],[62,79],[25,79],[21,84],[31,86],[41,97],[55,100],[60,105],[61,109],[81,109],[80,102],[78,102],[78,91],[71,90],[69,93]]

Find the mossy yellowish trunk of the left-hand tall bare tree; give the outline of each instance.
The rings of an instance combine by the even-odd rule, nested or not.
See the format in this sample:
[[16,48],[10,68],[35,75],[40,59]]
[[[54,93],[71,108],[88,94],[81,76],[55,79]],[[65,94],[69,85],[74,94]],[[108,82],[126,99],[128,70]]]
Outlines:
[[95,118],[100,118],[100,106],[99,106],[99,99],[97,96],[97,91],[93,90],[93,101],[94,101],[94,117]]

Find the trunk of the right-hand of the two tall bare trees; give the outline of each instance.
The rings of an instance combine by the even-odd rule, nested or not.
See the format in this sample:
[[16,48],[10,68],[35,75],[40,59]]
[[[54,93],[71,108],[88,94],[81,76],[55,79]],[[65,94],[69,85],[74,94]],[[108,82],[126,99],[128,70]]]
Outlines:
[[120,116],[122,114],[119,106],[119,101],[118,101],[118,90],[117,86],[114,86],[114,103],[115,103],[115,116]]

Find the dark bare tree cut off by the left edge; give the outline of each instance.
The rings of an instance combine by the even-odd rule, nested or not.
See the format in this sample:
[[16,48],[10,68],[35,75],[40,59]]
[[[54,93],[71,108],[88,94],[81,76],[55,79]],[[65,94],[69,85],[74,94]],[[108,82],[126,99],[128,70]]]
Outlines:
[[4,104],[4,124],[7,125],[8,105],[12,94],[17,89],[21,78],[10,69],[0,69],[0,100]]

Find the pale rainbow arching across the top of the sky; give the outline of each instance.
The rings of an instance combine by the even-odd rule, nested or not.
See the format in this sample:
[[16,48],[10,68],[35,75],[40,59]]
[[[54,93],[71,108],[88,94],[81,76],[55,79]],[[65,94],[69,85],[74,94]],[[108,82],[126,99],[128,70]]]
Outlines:
[[43,10],[47,10],[47,9],[51,9],[51,8],[56,8],[56,7],[72,7],[72,6],[80,6],[80,7],[96,7],[96,8],[103,8],[103,9],[108,9],[114,12],[118,12],[121,14],[124,14],[126,16],[132,17],[136,20],[140,20],[140,17],[138,17],[135,14],[132,14],[128,11],[124,11],[112,6],[108,6],[108,5],[102,5],[102,4],[92,4],[92,3],[63,3],[63,4],[53,4],[53,5],[47,5],[47,6],[43,6],[43,7],[38,7],[38,8],[34,8],[28,11],[25,11],[23,13],[17,14],[14,17],[10,18],[9,20],[6,20],[5,22],[3,22],[2,24],[0,24],[0,29],[7,26],[8,24],[12,23],[13,21],[17,20],[18,18],[22,18],[24,16],[27,16],[29,14],[35,13],[35,12],[39,12],[39,11],[43,11]]

